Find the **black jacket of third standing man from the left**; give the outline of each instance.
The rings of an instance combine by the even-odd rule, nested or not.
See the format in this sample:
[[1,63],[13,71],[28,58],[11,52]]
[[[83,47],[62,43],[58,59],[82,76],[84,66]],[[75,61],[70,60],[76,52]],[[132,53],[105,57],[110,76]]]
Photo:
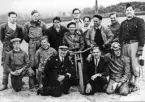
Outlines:
[[56,31],[54,26],[51,26],[47,29],[46,35],[48,36],[48,40],[50,43],[50,46],[54,48],[56,51],[58,51],[58,47],[60,44],[62,44],[62,38],[64,36],[64,33],[66,33],[68,30],[66,27],[61,26],[59,33]]

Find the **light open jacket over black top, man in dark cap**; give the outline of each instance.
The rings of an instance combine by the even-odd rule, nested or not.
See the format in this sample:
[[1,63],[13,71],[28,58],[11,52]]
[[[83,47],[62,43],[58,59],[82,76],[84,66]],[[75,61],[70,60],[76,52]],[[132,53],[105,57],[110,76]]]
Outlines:
[[[94,27],[91,27],[87,34],[86,34],[86,42],[87,42],[87,46],[90,46],[92,42],[94,42],[95,39],[95,34],[96,34],[96,30]],[[108,27],[104,27],[101,26],[101,35],[104,41],[104,44],[110,44],[110,42],[113,40],[113,33],[111,32],[111,30]]]

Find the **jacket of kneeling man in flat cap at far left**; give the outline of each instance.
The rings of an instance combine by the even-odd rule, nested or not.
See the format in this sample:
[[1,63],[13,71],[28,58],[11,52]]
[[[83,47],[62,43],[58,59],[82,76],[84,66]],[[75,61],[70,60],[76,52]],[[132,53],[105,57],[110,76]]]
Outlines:
[[11,50],[6,56],[6,65],[10,71],[19,70],[23,67],[29,68],[30,61],[26,52]]

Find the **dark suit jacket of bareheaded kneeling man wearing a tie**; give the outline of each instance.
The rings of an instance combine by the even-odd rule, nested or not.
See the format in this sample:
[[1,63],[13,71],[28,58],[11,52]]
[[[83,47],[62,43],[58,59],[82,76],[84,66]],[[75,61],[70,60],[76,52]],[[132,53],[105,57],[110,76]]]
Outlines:
[[[104,58],[100,57],[100,61],[98,62],[97,66],[97,73],[100,73],[102,76],[106,77],[109,75],[109,69],[107,67],[107,62],[104,60]],[[85,83],[89,83],[91,81],[91,76],[95,73],[95,63],[94,63],[94,57],[91,57],[89,60],[86,61],[85,65]]]

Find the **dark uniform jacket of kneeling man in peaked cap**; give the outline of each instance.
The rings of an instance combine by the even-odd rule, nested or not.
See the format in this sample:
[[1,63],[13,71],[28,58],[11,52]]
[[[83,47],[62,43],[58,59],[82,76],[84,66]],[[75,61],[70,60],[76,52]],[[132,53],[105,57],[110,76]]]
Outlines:
[[62,63],[59,56],[52,56],[47,60],[44,68],[44,86],[56,85],[59,75],[65,75],[65,78],[68,78],[66,73],[71,74],[71,62],[69,57],[66,56]]

